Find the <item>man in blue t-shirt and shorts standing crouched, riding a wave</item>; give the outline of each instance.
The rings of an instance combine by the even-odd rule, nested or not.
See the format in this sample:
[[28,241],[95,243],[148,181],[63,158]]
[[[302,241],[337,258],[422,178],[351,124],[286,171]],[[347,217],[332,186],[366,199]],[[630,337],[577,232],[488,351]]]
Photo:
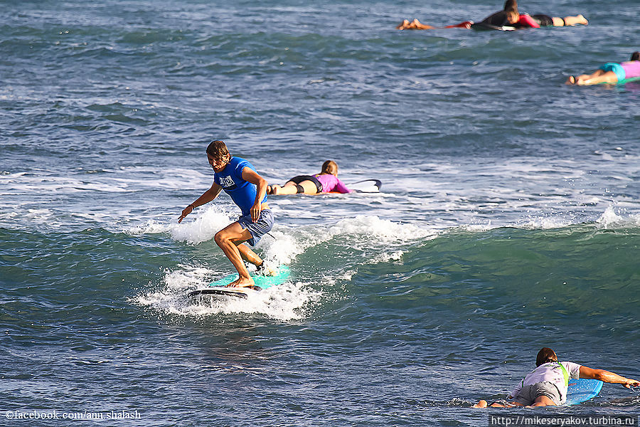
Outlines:
[[238,270],[238,280],[228,286],[253,286],[255,283],[242,260],[252,263],[258,270],[264,267],[262,258],[245,245],[245,242],[255,246],[273,227],[273,215],[267,204],[267,180],[257,174],[247,160],[232,157],[223,141],[213,141],[209,144],[207,159],[214,172],[213,184],[202,196],[183,209],[178,223],[191,214],[196,206],[212,201],[224,190],[238,205],[242,216],[238,221],[215,233],[215,243]]

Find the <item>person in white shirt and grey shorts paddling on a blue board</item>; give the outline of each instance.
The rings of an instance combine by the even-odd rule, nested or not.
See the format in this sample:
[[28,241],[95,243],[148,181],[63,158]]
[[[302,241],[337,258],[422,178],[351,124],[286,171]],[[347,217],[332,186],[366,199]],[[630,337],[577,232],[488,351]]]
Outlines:
[[573,362],[558,362],[555,352],[543,347],[535,358],[536,368],[518,383],[507,399],[511,401],[497,401],[487,405],[481,400],[472,408],[511,408],[513,406],[555,406],[562,405],[567,400],[569,379],[586,378],[622,384],[627,389],[640,386],[636,379],[624,378],[603,369],[591,369]]

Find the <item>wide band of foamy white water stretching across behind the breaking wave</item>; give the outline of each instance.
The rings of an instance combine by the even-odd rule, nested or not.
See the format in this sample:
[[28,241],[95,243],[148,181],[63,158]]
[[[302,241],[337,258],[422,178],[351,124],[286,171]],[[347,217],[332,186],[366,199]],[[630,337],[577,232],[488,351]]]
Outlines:
[[[287,263],[309,246],[340,236],[378,250],[377,243],[402,244],[465,226],[476,231],[558,228],[596,220],[603,226],[637,223],[631,214],[640,211],[640,204],[629,171],[635,170],[639,157],[619,147],[596,154],[584,162],[535,156],[429,162],[400,166],[393,174],[376,171],[373,177],[382,179],[383,193],[270,198],[276,239],[265,238],[260,245],[271,258]],[[266,163],[258,165],[259,170],[269,179],[277,177],[272,181],[319,167],[311,162],[280,169]],[[355,165],[341,171],[341,179],[361,181],[371,173]],[[203,159],[193,167],[145,164],[1,172],[0,226],[124,228],[132,233],[169,233],[176,241],[197,244],[238,217],[233,202],[222,195],[211,204],[214,211],[198,208],[176,224],[183,206],[210,183],[211,171]],[[609,204],[615,204],[618,216],[630,217],[603,215]],[[49,212],[37,212],[45,206]],[[139,225],[127,229],[131,224]]]

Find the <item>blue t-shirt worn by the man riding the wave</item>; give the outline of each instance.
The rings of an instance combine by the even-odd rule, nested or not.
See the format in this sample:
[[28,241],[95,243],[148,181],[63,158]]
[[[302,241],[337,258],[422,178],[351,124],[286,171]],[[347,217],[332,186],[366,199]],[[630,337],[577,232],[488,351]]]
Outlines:
[[[242,216],[249,215],[251,206],[255,202],[257,194],[257,186],[245,181],[242,178],[242,169],[250,168],[253,172],[257,172],[247,160],[240,157],[231,157],[225,169],[222,172],[214,172],[213,181],[223,188],[223,190],[231,196],[233,203],[237,204],[242,210]],[[267,201],[267,194],[261,203]]]

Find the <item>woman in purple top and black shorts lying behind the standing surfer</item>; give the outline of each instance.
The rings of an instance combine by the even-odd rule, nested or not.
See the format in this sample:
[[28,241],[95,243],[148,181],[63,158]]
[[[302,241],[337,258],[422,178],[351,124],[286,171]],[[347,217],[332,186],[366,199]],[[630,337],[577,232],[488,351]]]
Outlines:
[[334,191],[351,193],[338,179],[338,165],[333,160],[322,164],[322,170],[315,175],[299,175],[289,179],[283,186],[267,186],[267,194],[319,194]]

